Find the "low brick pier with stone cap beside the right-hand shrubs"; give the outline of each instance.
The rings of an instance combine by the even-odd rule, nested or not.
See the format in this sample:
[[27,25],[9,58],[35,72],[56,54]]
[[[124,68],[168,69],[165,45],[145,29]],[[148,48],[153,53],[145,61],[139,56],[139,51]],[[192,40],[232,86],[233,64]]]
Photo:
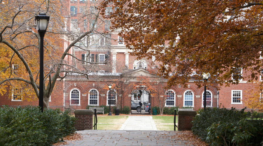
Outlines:
[[178,112],[178,130],[185,131],[191,130],[193,117],[195,117],[196,111],[179,111]]

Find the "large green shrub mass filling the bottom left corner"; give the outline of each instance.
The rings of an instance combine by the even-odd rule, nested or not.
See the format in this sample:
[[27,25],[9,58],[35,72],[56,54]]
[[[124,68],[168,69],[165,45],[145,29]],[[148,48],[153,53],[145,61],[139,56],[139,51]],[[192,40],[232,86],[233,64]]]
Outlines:
[[51,145],[75,132],[75,117],[39,107],[0,108],[0,145]]

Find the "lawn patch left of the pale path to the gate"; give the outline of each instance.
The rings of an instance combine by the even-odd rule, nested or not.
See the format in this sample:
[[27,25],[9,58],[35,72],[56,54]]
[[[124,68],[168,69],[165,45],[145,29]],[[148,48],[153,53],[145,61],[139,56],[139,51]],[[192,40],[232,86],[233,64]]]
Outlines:
[[119,130],[127,118],[128,116],[99,116],[97,130]]

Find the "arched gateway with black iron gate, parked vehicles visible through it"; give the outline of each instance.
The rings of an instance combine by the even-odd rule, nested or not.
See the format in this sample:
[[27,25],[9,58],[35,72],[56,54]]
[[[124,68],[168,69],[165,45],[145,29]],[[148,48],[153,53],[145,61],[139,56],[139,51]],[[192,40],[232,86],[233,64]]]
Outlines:
[[138,85],[131,91],[131,114],[150,114],[151,94],[146,86]]

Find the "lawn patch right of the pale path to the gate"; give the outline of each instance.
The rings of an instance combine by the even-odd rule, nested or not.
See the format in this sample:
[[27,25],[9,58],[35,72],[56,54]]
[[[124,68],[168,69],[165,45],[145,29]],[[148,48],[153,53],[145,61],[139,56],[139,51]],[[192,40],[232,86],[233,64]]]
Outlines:
[[[153,116],[153,120],[154,123],[156,124],[157,130],[165,130],[165,131],[174,130],[174,116]],[[178,123],[177,116],[176,116],[176,123]]]

